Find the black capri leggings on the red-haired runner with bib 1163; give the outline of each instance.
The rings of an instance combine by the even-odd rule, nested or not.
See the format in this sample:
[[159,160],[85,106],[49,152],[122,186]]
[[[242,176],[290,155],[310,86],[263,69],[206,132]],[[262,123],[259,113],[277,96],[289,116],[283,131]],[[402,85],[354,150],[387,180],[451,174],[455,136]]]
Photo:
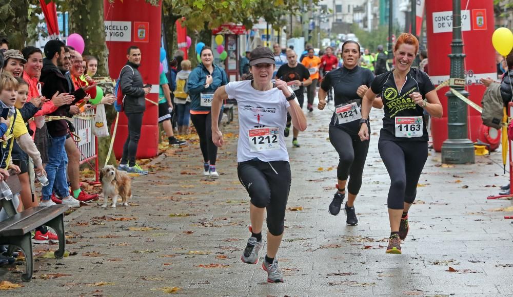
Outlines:
[[388,208],[404,209],[404,202],[413,203],[417,196],[417,184],[427,160],[427,142],[380,139],[378,150],[390,176]]

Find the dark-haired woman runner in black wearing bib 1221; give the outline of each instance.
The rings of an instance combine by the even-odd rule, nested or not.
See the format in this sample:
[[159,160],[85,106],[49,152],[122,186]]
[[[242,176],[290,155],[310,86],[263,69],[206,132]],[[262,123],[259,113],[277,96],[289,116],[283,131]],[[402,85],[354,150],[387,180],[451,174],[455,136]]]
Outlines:
[[[324,77],[319,89],[318,108],[323,110],[326,105],[327,92],[333,88],[335,110],[329,124],[329,140],[339,154],[337,168],[337,193],[328,206],[331,215],[337,216],[346,194],[347,179],[350,176],[347,190],[346,224],[358,224],[354,200],[362,186],[363,167],[369,150],[369,141],[358,137],[360,130],[362,97],[370,87],[374,75],[368,69],[358,66],[360,45],[348,40],[342,45],[343,67],[332,70]],[[380,100],[375,101],[375,107],[381,108]]]

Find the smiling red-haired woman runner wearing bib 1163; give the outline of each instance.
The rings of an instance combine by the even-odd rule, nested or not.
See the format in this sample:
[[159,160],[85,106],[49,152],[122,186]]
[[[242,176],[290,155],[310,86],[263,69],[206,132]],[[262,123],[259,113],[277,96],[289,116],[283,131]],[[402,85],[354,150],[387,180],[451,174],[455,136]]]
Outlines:
[[408,210],[417,196],[417,184],[427,160],[429,137],[424,111],[442,117],[442,105],[429,76],[411,68],[418,51],[417,38],[402,33],[393,50],[396,67],[378,75],[362,100],[362,125],[358,133],[362,141],[369,139],[369,112],[377,94],[381,94],[384,103],[378,149],[390,176],[390,240],[386,253],[401,253],[401,239],[408,234]]

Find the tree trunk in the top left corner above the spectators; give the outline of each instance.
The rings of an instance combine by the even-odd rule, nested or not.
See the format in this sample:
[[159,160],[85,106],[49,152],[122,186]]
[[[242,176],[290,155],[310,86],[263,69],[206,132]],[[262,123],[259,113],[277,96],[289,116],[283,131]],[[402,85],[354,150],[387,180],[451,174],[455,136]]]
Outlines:
[[15,3],[12,0],[0,0],[0,36],[7,37],[10,49],[21,50],[25,47],[28,10],[28,0],[16,0]]

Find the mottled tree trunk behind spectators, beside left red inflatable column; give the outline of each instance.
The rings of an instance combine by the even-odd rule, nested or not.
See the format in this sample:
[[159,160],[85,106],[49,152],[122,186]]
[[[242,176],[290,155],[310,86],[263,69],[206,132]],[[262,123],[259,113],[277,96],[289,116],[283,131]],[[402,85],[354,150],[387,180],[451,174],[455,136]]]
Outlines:
[[[0,0],[1,1],[1,0]],[[94,11],[94,13],[91,13]],[[98,59],[98,75],[109,76],[109,51],[105,44],[105,25],[103,20],[103,0],[70,0],[69,1],[69,31],[78,33],[84,38],[85,49],[83,55],[92,55]],[[107,122],[114,124],[114,108],[106,105]],[[110,130],[109,130],[110,131]],[[100,167],[105,164],[105,158],[110,145],[110,137],[98,138],[98,158]],[[111,154],[107,163],[115,164],[114,154]]]

